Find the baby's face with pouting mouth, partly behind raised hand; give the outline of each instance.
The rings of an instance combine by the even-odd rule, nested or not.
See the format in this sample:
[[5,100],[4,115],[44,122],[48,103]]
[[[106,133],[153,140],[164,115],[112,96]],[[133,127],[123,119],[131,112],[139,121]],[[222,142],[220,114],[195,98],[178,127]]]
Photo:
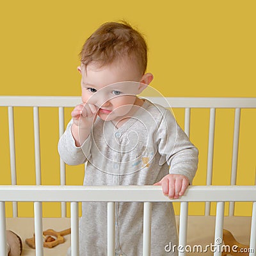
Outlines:
[[112,63],[98,68],[89,64],[81,66],[81,88],[83,103],[94,104],[99,108],[99,117],[106,121],[121,120],[131,110],[136,95],[147,87],[139,83],[141,75],[131,64]]

